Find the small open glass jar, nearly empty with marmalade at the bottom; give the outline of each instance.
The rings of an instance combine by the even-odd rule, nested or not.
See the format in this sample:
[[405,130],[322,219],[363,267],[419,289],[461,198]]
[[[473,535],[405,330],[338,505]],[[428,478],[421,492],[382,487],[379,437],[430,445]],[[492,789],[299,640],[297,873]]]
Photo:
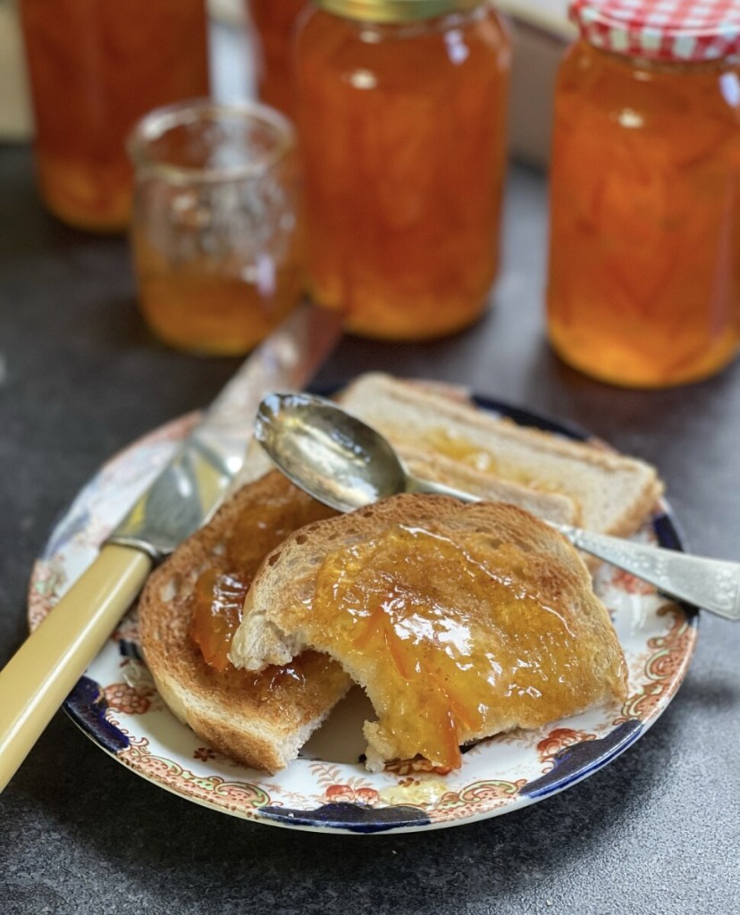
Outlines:
[[251,350],[303,291],[295,130],[266,105],[177,102],[129,139],[139,303],[180,350]]

